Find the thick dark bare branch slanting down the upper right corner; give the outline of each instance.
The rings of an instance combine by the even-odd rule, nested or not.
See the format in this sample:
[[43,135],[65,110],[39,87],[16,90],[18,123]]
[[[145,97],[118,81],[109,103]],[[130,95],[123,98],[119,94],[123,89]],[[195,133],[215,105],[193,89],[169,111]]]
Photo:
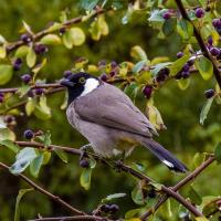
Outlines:
[[215,80],[217,80],[217,82],[218,82],[218,84],[219,84],[219,86],[221,88],[221,72],[219,70],[219,66],[218,66],[215,60],[212,57],[212,55],[208,51],[208,48],[207,48],[207,45],[206,45],[206,43],[204,43],[204,41],[203,41],[200,32],[198,31],[198,29],[196,28],[196,25],[193,24],[193,22],[188,17],[188,13],[187,13],[183,4],[182,4],[182,1],[181,0],[175,0],[175,1],[177,3],[178,9],[180,10],[180,13],[182,14],[182,18],[185,20],[189,21],[192,24],[192,27],[193,27],[193,34],[194,34],[194,36],[196,36],[196,39],[198,41],[198,44],[199,44],[199,46],[200,46],[203,55],[211,61],[211,63],[213,65],[214,77],[215,77]]

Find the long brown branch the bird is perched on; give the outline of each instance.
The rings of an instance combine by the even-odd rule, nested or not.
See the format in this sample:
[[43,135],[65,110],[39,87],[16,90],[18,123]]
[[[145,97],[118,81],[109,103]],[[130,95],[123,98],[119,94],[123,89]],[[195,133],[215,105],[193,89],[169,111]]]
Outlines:
[[[32,141],[15,141],[17,145],[19,146],[29,146],[29,147],[34,147],[34,148],[43,148],[43,144],[40,143],[32,143]],[[49,149],[50,150],[54,150],[54,149],[61,149],[65,152],[69,154],[73,154],[73,155],[81,155],[82,151],[80,149],[75,149],[75,148],[71,148],[71,147],[63,147],[63,146],[56,146],[56,145],[50,145]],[[90,154],[94,159],[102,161],[103,164],[109,166],[108,161],[106,161],[104,158],[99,157],[98,155],[95,154]],[[119,162],[114,162],[115,166],[120,169],[122,171],[131,175],[133,177],[136,177],[140,180],[145,180],[146,183],[150,183],[154,182],[154,180],[136,170],[134,170],[133,168],[130,168],[129,166],[126,166],[124,164],[119,164]],[[178,202],[180,202],[183,207],[186,207],[192,214],[194,214],[196,217],[202,217],[202,213],[199,212],[190,202],[188,202],[182,196],[180,196],[179,193],[177,193],[176,191],[173,191],[170,188],[167,188],[166,186],[161,186],[161,191],[164,191],[165,193],[167,193],[168,196],[172,197],[173,199],[176,199]]]

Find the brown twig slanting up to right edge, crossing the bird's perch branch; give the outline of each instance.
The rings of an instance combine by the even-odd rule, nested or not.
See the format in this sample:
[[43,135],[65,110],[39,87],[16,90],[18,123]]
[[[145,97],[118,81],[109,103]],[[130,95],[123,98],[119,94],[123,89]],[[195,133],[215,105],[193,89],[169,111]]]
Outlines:
[[[175,187],[172,187],[171,189],[173,191],[178,191],[180,188],[182,188],[185,185],[187,185],[188,182],[190,182],[191,180],[193,180],[198,175],[200,175],[207,167],[209,167],[213,161],[214,161],[214,157],[211,156],[209,157],[204,162],[202,162],[194,171],[192,171],[191,173],[189,173],[185,179],[182,179],[181,181],[179,181]],[[141,220],[146,220],[150,214],[152,214],[154,212],[156,212],[159,207],[161,204],[164,204],[167,199],[169,198],[168,194],[162,196],[158,202],[154,206],[154,208],[149,209],[146,213],[144,213],[140,219]]]

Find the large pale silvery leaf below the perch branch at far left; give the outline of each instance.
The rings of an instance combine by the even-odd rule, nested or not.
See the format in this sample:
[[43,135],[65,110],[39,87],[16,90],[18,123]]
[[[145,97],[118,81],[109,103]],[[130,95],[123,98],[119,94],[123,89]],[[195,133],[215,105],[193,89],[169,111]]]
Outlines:
[[20,150],[15,157],[15,162],[10,167],[10,171],[13,175],[19,175],[29,167],[31,161],[38,157],[34,148],[25,147]]

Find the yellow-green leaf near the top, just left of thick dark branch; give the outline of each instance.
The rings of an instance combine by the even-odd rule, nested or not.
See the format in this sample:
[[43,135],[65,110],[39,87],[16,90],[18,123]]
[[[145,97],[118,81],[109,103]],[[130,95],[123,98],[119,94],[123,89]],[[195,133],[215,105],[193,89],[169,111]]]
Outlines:
[[189,40],[192,36],[193,27],[189,21],[181,19],[177,22],[177,32],[183,40]]

